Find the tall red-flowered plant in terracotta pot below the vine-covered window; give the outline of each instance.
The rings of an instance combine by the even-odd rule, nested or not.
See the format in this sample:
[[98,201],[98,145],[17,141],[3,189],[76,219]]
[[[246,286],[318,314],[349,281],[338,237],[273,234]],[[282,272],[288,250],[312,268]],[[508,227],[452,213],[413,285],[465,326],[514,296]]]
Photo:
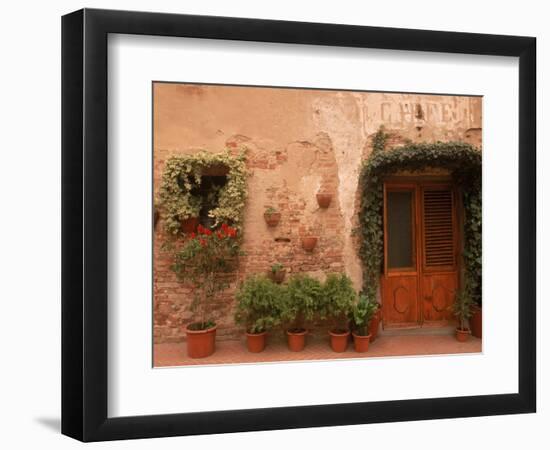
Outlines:
[[191,233],[183,245],[174,250],[172,270],[180,280],[193,286],[191,310],[195,321],[185,329],[190,358],[204,358],[214,353],[216,323],[211,316],[212,303],[227,287],[227,281],[218,275],[231,272],[232,262],[239,254],[237,230],[225,223],[217,231],[199,225],[198,234]]

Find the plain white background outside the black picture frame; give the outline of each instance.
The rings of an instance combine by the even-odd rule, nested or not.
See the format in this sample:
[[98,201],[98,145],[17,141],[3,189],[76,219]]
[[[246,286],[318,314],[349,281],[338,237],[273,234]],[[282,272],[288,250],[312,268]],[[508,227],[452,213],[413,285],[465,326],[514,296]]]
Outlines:
[[[2,39],[2,222],[1,300],[2,399],[0,442],[6,448],[72,448],[79,444],[58,434],[60,374],[60,19],[82,6],[249,16],[288,20],[356,23],[486,33],[536,35],[539,67],[539,141],[543,107],[548,105],[550,31],[542,2],[485,4],[446,2],[19,2],[4,6]],[[488,3],[488,2],[487,2]],[[498,5],[498,6],[497,6]],[[547,77],[547,75],[545,75]],[[543,105],[544,102],[544,105]],[[539,152],[539,231],[548,228],[547,154]],[[544,225],[543,225],[544,223]],[[539,380],[548,378],[548,235],[539,234]],[[546,295],[545,295],[546,294]],[[546,356],[544,352],[546,351]],[[172,438],[104,443],[106,448],[281,448],[284,446],[364,445],[396,448],[462,449],[548,447],[550,396],[539,383],[536,415],[469,418],[401,424],[244,433],[228,436]]]

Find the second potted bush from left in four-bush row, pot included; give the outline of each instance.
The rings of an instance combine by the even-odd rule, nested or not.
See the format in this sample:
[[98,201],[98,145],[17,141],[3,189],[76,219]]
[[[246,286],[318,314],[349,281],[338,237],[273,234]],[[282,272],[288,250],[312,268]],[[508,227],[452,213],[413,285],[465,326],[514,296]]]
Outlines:
[[288,348],[293,352],[304,349],[306,323],[313,320],[322,295],[321,283],[308,275],[292,277],[283,297],[281,318],[287,324]]

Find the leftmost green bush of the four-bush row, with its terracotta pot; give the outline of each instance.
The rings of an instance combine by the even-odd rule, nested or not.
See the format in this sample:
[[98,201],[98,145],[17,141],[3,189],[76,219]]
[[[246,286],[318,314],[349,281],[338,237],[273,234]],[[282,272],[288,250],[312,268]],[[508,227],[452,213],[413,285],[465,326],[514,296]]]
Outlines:
[[248,351],[263,351],[267,332],[280,321],[283,287],[265,276],[247,278],[236,294],[235,322],[245,326]]

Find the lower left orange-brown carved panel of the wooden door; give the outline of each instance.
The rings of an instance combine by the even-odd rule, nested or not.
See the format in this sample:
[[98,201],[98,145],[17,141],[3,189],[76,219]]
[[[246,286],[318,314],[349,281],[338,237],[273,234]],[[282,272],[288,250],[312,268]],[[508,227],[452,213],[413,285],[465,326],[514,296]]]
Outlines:
[[414,276],[382,276],[382,315],[385,323],[418,323],[418,279]]

